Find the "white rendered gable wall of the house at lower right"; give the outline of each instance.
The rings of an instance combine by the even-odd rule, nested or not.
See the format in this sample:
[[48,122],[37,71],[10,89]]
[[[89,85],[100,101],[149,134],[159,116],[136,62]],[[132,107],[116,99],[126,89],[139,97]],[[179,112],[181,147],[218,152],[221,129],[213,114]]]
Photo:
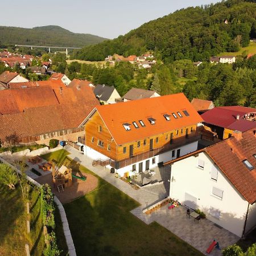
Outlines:
[[[204,169],[197,167],[198,159],[204,160]],[[218,170],[217,181],[211,179],[212,167]],[[212,187],[224,191],[222,199],[212,195]],[[210,221],[242,236],[248,203],[205,152],[172,164],[170,197],[183,204],[185,192],[196,197],[197,208],[203,210]],[[220,218],[209,214],[210,207],[220,210]]]

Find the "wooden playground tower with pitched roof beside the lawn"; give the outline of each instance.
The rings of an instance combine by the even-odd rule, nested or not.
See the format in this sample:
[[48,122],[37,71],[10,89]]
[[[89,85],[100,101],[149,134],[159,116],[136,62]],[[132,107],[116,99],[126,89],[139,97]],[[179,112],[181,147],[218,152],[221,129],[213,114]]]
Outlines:
[[52,164],[52,181],[54,187],[58,189],[59,192],[64,191],[64,188],[72,186],[72,168],[64,166],[62,164],[60,167],[54,162]]

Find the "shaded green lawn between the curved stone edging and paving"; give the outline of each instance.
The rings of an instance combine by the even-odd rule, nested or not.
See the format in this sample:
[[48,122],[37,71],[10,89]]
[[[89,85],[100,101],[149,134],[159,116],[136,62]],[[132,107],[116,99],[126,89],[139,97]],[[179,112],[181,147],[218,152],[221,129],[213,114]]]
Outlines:
[[[61,151],[52,154],[67,155]],[[73,169],[93,174],[72,164]],[[156,222],[144,224],[130,213],[138,206],[98,177],[94,191],[64,205],[77,255],[203,255]]]

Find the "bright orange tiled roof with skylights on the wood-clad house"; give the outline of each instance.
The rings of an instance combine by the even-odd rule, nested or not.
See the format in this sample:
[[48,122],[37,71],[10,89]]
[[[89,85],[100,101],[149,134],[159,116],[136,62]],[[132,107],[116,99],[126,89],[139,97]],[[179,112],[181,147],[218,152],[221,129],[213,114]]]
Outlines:
[[[119,145],[203,121],[183,93],[102,105],[96,109]],[[186,116],[183,110],[187,110],[189,116]],[[182,117],[179,117],[177,112],[180,112]],[[175,113],[177,118],[174,118],[172,113]],[[164,114],[171,115],[171,120],[167,121]],[[155,125],[151,125],[148,118],[154,118]],[[145,127],[141,126],[139,120],[143,121]],[[139,126],[138,129],[134,127],[134,121]],[[126,131],[123,123],[129,123],[131,130]]]

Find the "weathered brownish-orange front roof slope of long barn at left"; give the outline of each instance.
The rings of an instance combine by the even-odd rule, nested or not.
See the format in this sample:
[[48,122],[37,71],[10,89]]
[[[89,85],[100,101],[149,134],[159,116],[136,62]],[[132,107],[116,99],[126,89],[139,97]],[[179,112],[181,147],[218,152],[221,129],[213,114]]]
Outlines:
[[57,130],[78,127],[98,101],[72,102],[62,105],[42,106],[24,112],[0,115],[0,139],[16,135],[18,138],[46,134]]

